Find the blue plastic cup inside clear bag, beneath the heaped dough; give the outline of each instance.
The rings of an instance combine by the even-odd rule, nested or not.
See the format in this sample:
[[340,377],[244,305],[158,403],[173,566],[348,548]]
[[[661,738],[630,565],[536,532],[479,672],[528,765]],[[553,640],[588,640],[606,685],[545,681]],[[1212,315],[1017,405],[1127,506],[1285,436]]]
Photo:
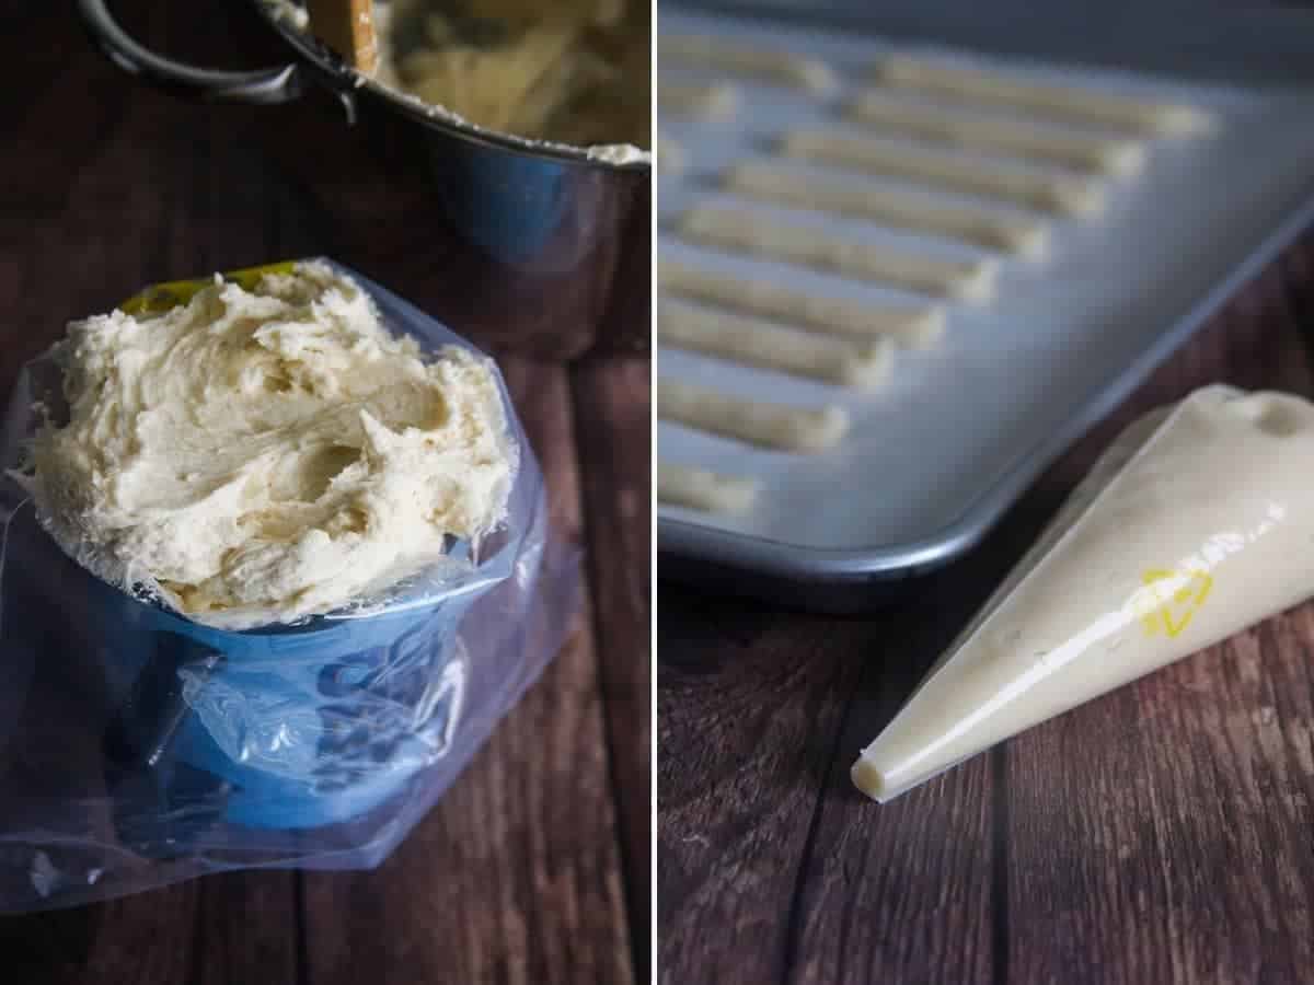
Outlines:
[[456,630],[473,592],[229,632],[83,577],[66,591],[109,628],[106,653],[130,682],[113,758],[156,777],[166,814],[340,823],[403,791],[451,743],[465,683]]

